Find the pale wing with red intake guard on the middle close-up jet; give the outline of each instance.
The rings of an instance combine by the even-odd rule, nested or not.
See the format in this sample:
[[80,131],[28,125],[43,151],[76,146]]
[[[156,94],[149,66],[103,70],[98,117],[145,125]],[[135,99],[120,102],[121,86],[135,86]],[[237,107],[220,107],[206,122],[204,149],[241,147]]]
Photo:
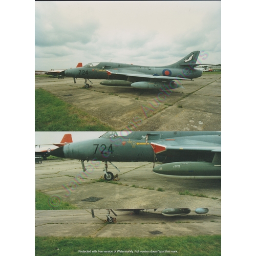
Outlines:
[[155,154],[168,153],[177,150],[221,152],[219,143],[212,143],[193,139],[166,139],[150,143]]

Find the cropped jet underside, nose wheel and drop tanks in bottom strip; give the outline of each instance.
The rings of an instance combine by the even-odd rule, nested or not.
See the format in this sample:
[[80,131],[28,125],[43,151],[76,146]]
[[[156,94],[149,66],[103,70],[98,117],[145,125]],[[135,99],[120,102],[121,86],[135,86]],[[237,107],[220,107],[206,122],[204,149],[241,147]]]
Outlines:
[[[143,210],[148,210],[148,209],[116,209],[116,211],[133,211],[135,214],[139,214],[140,211]],[[156,211],[157,209],[154,209]],[[117,217],[116,212],[113,209],[107,209],[108,214],[106,215],[106,220],[108,222],[114,222],[114,218],[110,216],[111,211],[112,213]],[[190,213],[189,208],[165,208],[162,210],[162,215],[167,216],[167,217],[172,217],[172,216],[180,216],[180,215],[187,215]],[[208,208],[197,208],[195,209],[196,214],[207,214],[209,211]],[[94,215],[94,209],[91,210],[92,217],[95,218]]]

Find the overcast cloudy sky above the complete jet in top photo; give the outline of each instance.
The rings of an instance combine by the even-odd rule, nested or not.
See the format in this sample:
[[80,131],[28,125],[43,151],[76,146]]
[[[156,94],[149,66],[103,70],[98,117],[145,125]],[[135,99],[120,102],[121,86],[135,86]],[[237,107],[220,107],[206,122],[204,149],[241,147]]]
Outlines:
[[221,1],[35,2],[35,70],[163,66],[195,50],[221,63]]

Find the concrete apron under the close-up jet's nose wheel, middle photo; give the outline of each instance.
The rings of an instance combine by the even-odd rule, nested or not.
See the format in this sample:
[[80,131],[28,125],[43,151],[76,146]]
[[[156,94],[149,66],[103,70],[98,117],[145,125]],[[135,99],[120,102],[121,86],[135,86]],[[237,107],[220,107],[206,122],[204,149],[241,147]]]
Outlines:
[[220,214],[221,180],[162,177],[152,172],[153,164],[148,162],[114,164],[121,172],[111,165],[109,171],[118,173],[120,180],[101,182],[103,163],[86,177],[78,160],[42,161],[35,164],[35,188],[79,209],[207,207],[211,214]]

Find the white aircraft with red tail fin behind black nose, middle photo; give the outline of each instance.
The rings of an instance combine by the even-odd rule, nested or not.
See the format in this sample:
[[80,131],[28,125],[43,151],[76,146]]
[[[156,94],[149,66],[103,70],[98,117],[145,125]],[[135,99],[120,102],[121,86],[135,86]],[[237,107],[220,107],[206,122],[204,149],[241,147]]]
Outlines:
[[66,145],[68,143],[72,143],[72,142],[73,142],[72,135],[65,134],[63,136],[63,138],[61,139],[60,143],[35,145],[35,155],[42,156],[42,159],[46,160],[47,157],[50,156],[51,151],[55,150],[56,148],[58,148],[60,146],[64,146],[64,145]]

